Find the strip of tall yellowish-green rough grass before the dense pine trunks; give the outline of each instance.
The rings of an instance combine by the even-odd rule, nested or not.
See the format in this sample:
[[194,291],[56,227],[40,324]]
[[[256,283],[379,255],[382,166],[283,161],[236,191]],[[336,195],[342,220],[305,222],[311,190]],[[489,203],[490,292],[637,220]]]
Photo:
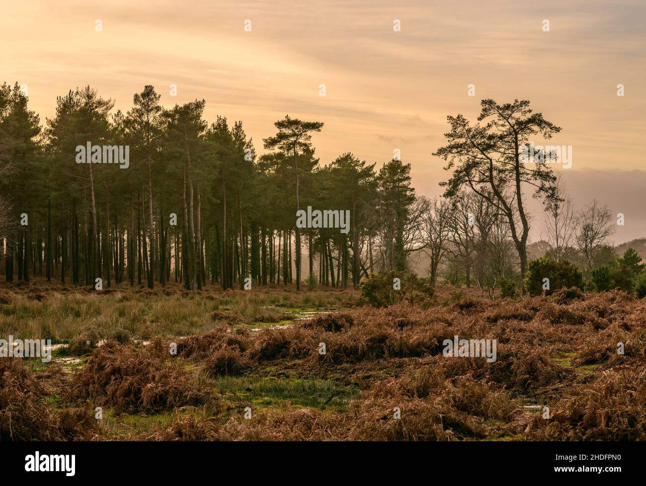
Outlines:
[[[4,300],[9,303],[0,306],[0,335],[68,343],[84,330],[96,328],[105,332],[125,330],[134,339],[177,337],[207,332],[223,324],[213,319],[214,312],[230,315],[233,321],[237,319],[234,324],[258,327],[257,324],[287,321],[287,313],[298,317],[304,310],[348,306],[355,299],[353,293],[344,291],[204,291],[185,297],[176,290],[171,295],[148,295],[128,287],[107,293],[59,291],[56,286],[38,294],[10,290],[4,294]],[[254,322],[261,315],[264,322]]]

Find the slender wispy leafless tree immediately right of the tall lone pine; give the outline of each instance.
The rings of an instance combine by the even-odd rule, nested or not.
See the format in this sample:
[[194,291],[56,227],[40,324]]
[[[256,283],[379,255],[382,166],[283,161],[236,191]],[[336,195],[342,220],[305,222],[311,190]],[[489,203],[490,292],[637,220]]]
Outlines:
[[552,246],[556,261],[559,261],[565,250],[572,245],[577,223],[572,199],[567,196],[561,174],[554,183],[554,195],[556,197],[548,199],[545,204],[547,219],[543,227],[547,233],[547,242]]

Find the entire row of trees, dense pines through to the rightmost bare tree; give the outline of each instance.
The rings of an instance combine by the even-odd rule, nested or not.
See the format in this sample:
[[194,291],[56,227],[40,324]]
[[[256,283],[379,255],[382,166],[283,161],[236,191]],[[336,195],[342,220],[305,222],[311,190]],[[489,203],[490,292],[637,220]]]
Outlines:
[[[248,277],[298,290],[357,288],[375,271],[410,271],[410,255],[424,253],[432,286],[442,274],[495,293],[526,273],[527,195],[545,207],[545,251],[557,261],[582,255],[588,277],[614,229],[596,201],[575,214],[551,154],[523,153],[532,138],[561,130],[529,101],[483,100],[475,123],[448,116],[446,145],[433,155],[450,176],[434,200],[416,195],[399,157],[379,170],[349,152],[321,164],[311,139],[322,122],[285,116],[258,156],[242,122],[204,119],[205,100],[160,101],[147,85],[123,113],[86,86],[57,97],[56,115],[41,125],[17,83],[2,85],[8,282],[43,276],[94,286],[101,278],[108,287],[129,280],[154,288],[174,279],[199,290],[209,282],[243,288]],[[92,163],[93,153],[78,164],[77,147],[88,143],[129,147],[127,169]],[[306,207],[349,211],[349,233],[298,227]]]

